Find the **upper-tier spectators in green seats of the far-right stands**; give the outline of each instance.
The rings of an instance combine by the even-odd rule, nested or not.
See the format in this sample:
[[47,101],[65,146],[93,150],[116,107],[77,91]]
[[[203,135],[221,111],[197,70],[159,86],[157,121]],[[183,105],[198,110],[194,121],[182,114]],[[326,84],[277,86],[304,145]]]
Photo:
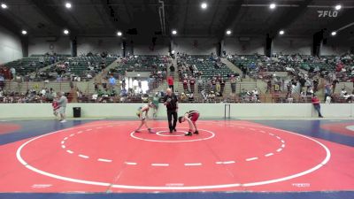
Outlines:
[[309,73],[318,73],[327,78],[335,73],[340,81],[351,80],[353,71],[353,54],[346,53],[342,56],[313,57],[309,55],[282,55],[273,54],[272,57],[264,55],[227,55],[227,59],[242,69],[242,76],[250,75],[257,79],[267,77],[266,72],[288,72],[296,75],[300,69]]

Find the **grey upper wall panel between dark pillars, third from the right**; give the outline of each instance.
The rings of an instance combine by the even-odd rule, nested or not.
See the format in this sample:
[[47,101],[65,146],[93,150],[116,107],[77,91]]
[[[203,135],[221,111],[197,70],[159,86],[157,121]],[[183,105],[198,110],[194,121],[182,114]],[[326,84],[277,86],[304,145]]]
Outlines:
[[[244,41],[247,40],[248,41]],[[266,39],[262,37],[227,37],[224,41],[224,50],[227,54],[235,55],[253,55],[258,53],[260,55],[265,54]]]

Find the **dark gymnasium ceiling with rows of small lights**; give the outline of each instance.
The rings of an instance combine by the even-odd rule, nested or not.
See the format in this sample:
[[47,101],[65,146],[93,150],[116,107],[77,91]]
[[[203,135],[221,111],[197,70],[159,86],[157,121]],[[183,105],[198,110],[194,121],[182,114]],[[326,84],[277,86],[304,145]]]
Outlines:
[[[8,9],[0,9],[0,26],[29,36],[61,35],[64,28],[72,34],[115,36],[121,30],[125,37],[161,36],[162,28],[158,0],[68,0],[68,10],[62,0],[7,0]],[[312,36],[354,22],[354,0],[205,0],[206,10],[199,0],[163,0],[165,3],[165,36],[171,30],[177,36],[223,37],[227,29],[234,36],[277,34],[284,29],[291,36]],[[276,3],[276,9],[269,9]],[[318,11],[335,11],[336,18],[319,18]],[[337,34],[353,41],[354,26]]]

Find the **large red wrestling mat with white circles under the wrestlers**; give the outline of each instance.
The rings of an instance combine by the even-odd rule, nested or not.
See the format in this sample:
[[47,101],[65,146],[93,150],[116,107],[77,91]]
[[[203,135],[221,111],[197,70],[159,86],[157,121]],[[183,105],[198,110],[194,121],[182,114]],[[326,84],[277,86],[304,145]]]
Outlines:
[[353,190],[354,149],[247,121],[97,121],[0,147],[0,192]]

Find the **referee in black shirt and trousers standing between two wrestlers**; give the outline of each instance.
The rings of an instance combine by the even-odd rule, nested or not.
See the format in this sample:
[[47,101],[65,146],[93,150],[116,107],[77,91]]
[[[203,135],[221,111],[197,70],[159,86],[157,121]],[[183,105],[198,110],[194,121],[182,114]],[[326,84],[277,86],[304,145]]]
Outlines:
[[[177,111],[178,111],[178,99],[177,96],[174,95],[171,88],[166,89],[166,95],[164,97],[164,104],[167,108],[167,118],[168,118],[168,127],[170,128],[170,134],[172,132],[176,132],[176,124],[177,124]],[[173,117],[173,124],[172,124]]]

